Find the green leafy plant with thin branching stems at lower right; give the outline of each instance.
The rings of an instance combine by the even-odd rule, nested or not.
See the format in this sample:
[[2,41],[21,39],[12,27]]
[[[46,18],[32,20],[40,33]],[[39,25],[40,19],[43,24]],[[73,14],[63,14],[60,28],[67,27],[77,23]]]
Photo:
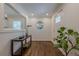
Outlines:
[[[74,31],[73,29],[66,29],[66,27],[60,27],[58,30],[58,35],[55,38],[57,44],[55,44],[56,48],[62,48],[67,56],[72,49],[79,50],[79,33]],[[73,43],[70,39],[73,37],[75,39],[75,43]],[[71,45],[71,47],[69,46]]]

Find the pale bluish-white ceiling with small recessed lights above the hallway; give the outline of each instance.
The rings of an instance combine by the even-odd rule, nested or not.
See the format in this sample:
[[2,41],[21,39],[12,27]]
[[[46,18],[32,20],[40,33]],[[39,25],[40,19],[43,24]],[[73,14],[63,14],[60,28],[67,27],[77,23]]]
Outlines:
[[[57,3],[17,3],[28,16],[51,17],[59,5]],[[48,13],[48,16],[46,15]]]

